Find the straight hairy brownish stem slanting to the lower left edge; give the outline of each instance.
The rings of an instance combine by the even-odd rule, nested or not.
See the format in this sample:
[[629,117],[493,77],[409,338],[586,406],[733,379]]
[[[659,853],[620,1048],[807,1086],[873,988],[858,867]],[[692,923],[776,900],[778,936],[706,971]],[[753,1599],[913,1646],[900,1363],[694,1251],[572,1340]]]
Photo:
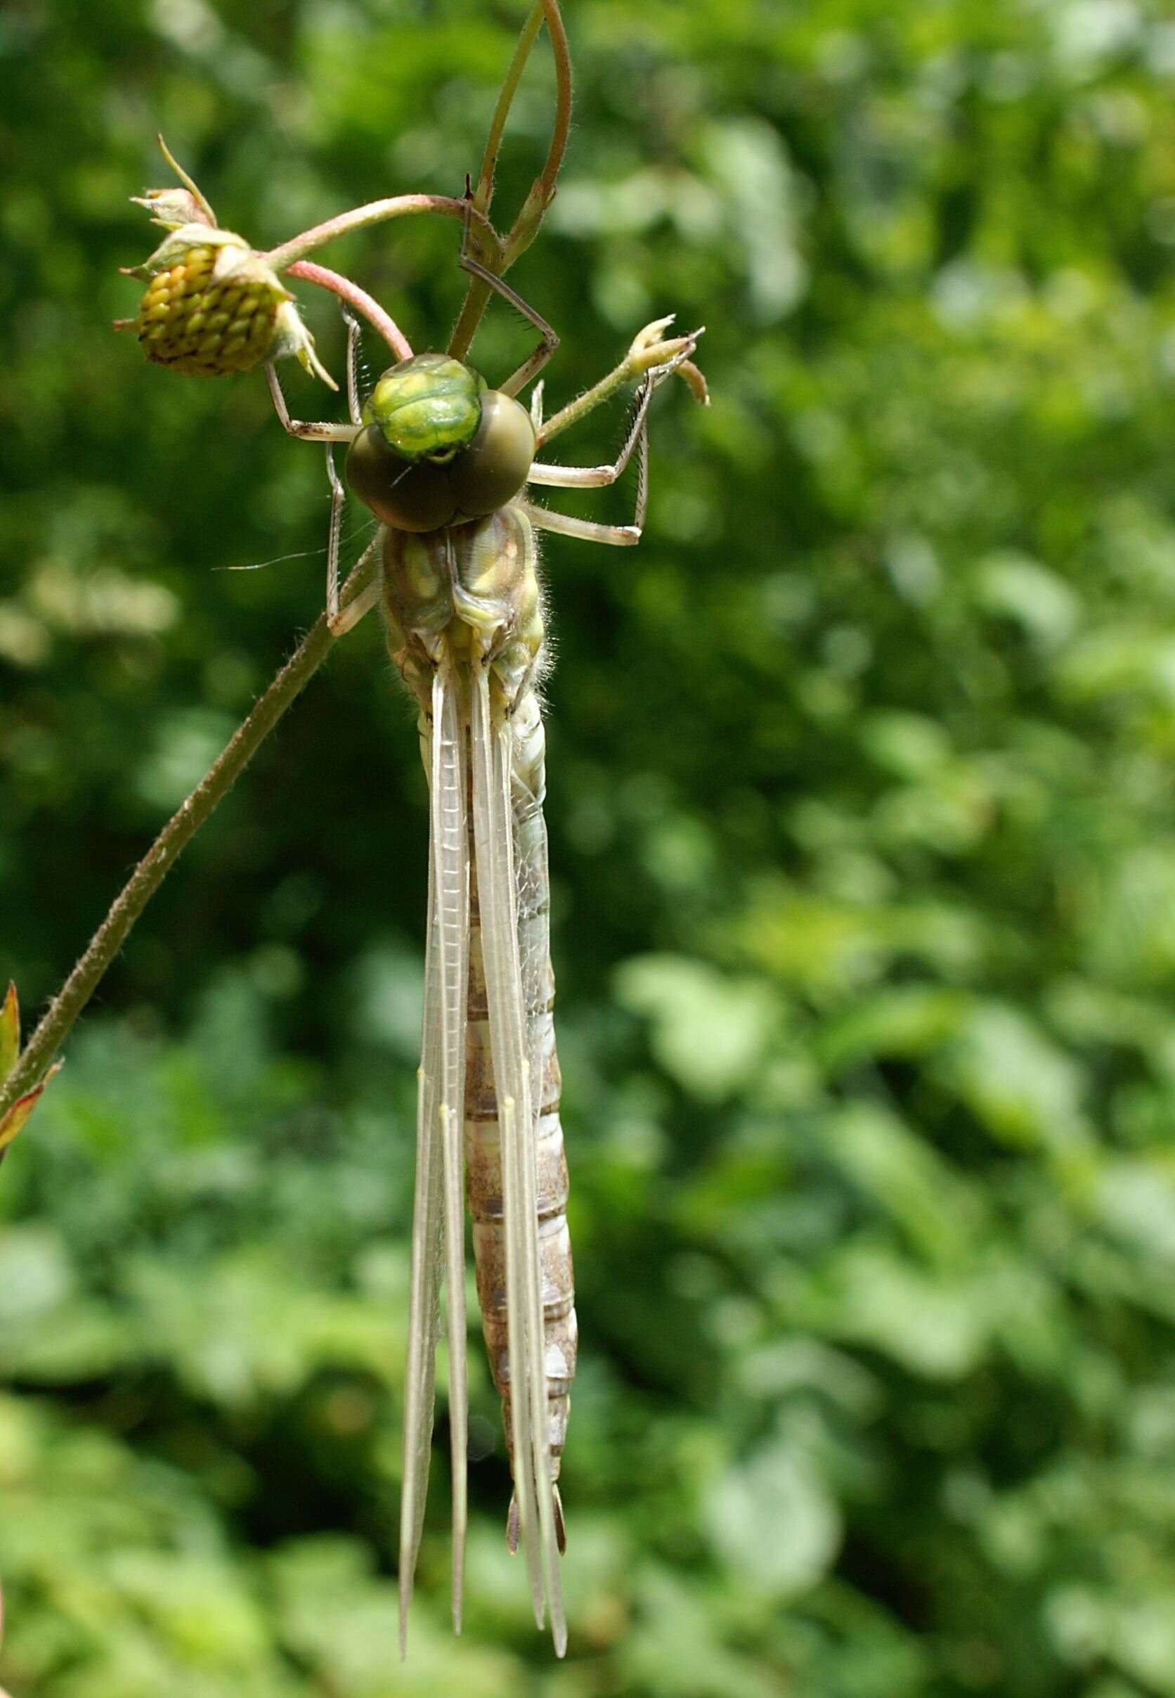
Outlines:
[[[343,606],[363,593],[374,571],[375,562],[372,560],[351,572],[343,588]],[[97,990],[105,970],[126,942],[131,927],[163,883],[163,878],[175,866],[180,851],[224,800],[233,783],[241,776],[285,710],[292,706],[294,700],[331,652],[335,642],[336,638],[331,635],[326,615],[323,613],[248,718],[238,725],[192,795],[178,807],[155,839],[122,891],[115,897],[110,912],[90,939],[85,954],[49,1004],[32,1037],[20,1051],[17,1065],[5,1078],[3,1090],[0,1092],[0,1116],[42,1077],[70,1027]]]

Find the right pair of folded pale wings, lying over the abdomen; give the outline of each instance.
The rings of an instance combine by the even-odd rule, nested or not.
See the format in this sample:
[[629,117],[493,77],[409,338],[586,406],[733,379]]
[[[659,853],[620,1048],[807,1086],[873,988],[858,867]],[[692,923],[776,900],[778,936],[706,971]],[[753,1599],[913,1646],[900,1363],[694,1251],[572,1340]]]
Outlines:
[[526,1547],[535,1620],[545,1605],[559,1656],[567,1649],[559,1540],[550,1477],[543,1302],[538,1260],[538,1204],[530,1056],[518,953],[518,891],[511,812],[511,734],[494,725],[489,671],[475,662],[470,691],[470,761],[477,900],[481,908],[489,1044],[494,1061],[503,1150],[506,1240],[506,1338],[514,1452],[514,1499]]

